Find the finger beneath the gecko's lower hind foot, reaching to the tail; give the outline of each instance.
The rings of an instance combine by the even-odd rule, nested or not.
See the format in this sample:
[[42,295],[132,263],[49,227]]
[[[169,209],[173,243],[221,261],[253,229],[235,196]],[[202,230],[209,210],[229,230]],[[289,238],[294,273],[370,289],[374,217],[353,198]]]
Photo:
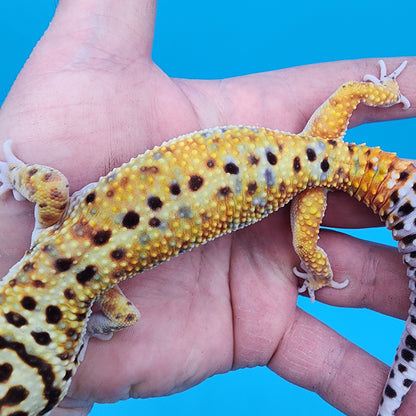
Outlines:
[[321,230],[320,235],[319,245],[328,254],[334,279],[348,279],[350,283],[342,290],[318,290],[319,301],[406,318],[408,278],[396,248],[329,230]]

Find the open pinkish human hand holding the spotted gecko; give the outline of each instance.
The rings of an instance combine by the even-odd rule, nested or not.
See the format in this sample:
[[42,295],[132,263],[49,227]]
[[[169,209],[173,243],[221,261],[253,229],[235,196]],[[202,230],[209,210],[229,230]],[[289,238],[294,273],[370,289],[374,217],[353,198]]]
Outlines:
[[[343,82],[378,72],[377,60],[368,59],[216,81],[172,79],[151,60],[156,1],[120,4],[61,0],[0,111],[1,140],[12,139],[22,160],[61,170],[73,191],[194,130],[248,124],[299,132]],[[416,59],[407,59],[399,83],[416,103]],[[386,59],[388,69],[402,60]],[[414,108],[361,106],[351,124],[415,115]],[[0,214],[0,235],[8,237],[0,240],[4,275],[28,247],[33,206],[10,196]],[[289,224],[288,209],[281,209],[124,282],[142,319],[111,341],[90,341],[68,397],[52,415],[86,415],[94,402],[171,394],[257,365],[316,391],[347,415],[374,415],[388,368],[296,306],[298,259]],[[331,193],[325,224],[368,227],[380,220]],[[329,231],[320,245],[335,279],[349,276],[350,284],[319,290],[319,301],[406,317],[406,271],[395,249]],[[411,391],[397,415],[415,405]]]

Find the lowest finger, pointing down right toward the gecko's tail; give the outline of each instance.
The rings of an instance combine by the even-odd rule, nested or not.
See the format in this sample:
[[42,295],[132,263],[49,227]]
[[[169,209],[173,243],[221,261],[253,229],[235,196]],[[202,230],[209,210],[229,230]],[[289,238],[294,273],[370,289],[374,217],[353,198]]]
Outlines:
[[349,416],[376,414],[388,372],[382,362],[301,309],[268,365]]

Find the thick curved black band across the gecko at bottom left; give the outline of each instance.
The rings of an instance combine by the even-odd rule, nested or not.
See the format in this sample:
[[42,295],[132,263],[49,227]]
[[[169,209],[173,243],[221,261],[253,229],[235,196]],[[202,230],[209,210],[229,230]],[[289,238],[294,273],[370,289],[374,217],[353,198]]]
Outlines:
[[[48,403],[39,412],[39,414],[43,415],[48,413],[56,406],[59,400],[59,396],[61,394],[61,391],[58,388],[53,387],[55,375],[51,365],[44,361],[42,358],[37,357],[36,355],[28,354],[25,346],[22,343],[15,341],[7,341],[4,337],[0,336],[0,350],[5,348],[15,351],[24,363],[26,363],[29,367],[37,369],[38,374],[42,377],[44,385],[43,396],[46,398],[46,400],[48,400]],[[18,396],[22,396],[22,393],[24,395],[24,392],[16,393],[18,393]]]

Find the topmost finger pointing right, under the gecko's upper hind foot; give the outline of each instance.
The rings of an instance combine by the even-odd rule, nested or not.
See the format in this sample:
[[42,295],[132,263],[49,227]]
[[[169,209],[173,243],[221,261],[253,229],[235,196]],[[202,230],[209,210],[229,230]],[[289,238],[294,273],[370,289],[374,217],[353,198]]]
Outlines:
[[[416,103],[416,58],[400,75],[401,92]],[[394,70],[404,58],[387,58],[388,70]],[[262,125],[281,131],[300,132],[312,113],[340,85],[347,81],[361,81],[365,74],[378,75],[377,59],[327,62],[316,65],[287,68],[279,71],[253,74],[218,81],[191,81],[183,84],[191,101],[201,109],[213,107],[221,110],[227,124]],[[201,100],[201,97],[204,99]],[[204,113],[199,114],[204,120]],[[368,121],[414,117],[416,108],[404,111],[402,106],[369,108],[359,106],[350,126]]]

